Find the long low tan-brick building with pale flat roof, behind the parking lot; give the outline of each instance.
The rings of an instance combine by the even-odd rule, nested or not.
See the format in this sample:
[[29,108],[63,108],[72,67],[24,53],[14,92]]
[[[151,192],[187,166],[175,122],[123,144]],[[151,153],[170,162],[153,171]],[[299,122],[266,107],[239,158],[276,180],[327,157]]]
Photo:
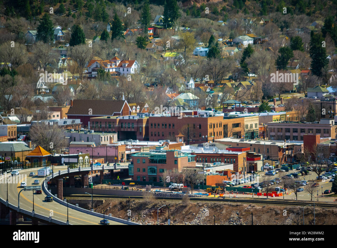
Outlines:
[[[300,155],[300,151],[295,152],[294,150],[295,143],[289,142],[235,138],[223,138],[215,142],[233,147],[249,147],[250,151],[263,154],[265,160],[275,160],[278,161],[280,165],[284,163],[294,163],[295,155]],[[297,158],[299,158],[299,156],[297,156]]]

